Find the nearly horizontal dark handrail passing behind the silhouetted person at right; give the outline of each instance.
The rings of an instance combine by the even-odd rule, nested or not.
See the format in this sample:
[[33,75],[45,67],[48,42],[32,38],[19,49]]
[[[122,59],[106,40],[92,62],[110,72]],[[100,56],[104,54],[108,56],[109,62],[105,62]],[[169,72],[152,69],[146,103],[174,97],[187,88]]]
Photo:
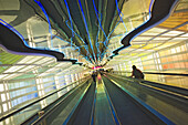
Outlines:
[[[111,73],[132,73],[127,71],[112,71]],[[157,72],[143,72],[144,74],[159,74],[159,75],[178,75],[178,76],[188,76],[188,74],[182,74],[182,73],[157,73]]]

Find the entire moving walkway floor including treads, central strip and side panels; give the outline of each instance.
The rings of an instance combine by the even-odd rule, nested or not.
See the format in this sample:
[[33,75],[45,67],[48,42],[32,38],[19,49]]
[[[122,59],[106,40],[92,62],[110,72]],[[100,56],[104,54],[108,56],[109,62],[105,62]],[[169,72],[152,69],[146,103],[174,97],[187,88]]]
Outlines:
[[104,74],[96,83],[87,80],[77,85],[42,116],[22,124],[184,125],[188,121],[187,93],[186,88]]

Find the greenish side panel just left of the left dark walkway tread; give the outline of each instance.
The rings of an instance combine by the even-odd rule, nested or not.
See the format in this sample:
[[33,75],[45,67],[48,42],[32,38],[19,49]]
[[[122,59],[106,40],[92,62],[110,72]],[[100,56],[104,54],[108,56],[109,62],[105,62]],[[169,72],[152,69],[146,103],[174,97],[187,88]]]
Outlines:
[[62,125],[62,123],[65,121],[65,118],[74,107],[74,104],[77,102],[77,100],[87,86],[87,83],[82,84],[73,93],[63,98],[63,101],[51,108],[48,113],[44,114],[44,116],[34,122],[32,125],[38,125],[40,123],[48,123],[48,125]]

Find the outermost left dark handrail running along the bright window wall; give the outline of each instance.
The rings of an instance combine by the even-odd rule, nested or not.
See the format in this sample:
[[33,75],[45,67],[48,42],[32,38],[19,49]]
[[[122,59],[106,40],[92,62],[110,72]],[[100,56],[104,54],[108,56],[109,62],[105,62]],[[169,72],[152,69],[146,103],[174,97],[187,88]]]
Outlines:
[[[82,80],[85,80],[85,79],[87,79],[87,77],[84,77],[84,79],[82,79]],[[79,81],[82,81],[82,80],[79,80]],[[14,115],[14,114],[17,114],[17,113],[19,113],[19,112],[21,112],[21,111],[28,108],[28,107],[30,107],[30,106],[36,104],[38,102],[40,102],[40,101],[42,101],[42,100],[44,100],[44,98],[46,98],[46,97],[49,97],[49,96],[51,96],[51,95],[53,95],[53,94],[60,92],[60,91],[62,91],[62,90],[64,90],[64,88],[66,88],[66,87],[69,87],[69,86],[71,86],[71,85],[73,85],[73,84],[76,84],[76,82],[79,82],[79,81],[75,81],[75,82],[72,83],[72,84],[67,84],[67,85],[63,86],[62,88],[60,88],[60,90],[58,90],[58,91],[55,91],[55,92],[52,92],[52,93],[50,93],[50,94],[43,96],[42,98],[39,98],[39,100],[36,100],[36,101],[34,101],[34,102],[32,102],[32,103],[30,103],[30,104],[28,104],[28,105],[25,105],[25,106],[23,106],[23,107],[17,110],[17,111],[13,111],[13,112],[11,112],[11,113],[8,113],[7,115],[0,117],[0,122],[1,122],[1,121],[4,121],[6,118],[8,118],[8,117],[10,117],[10,116],[12,116],[12,115]]]

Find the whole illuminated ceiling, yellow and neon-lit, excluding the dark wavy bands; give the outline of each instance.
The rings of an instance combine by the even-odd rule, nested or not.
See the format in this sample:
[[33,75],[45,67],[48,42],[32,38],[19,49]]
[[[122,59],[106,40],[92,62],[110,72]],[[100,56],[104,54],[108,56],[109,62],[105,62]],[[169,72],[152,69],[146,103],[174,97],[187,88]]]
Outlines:
[[[0,0],[0,22],[4,21],[13,27],[31,48],[59,51],[65,55],[65,59],[74,59],[84,65],[93,66],[108,61],[113,55],[112,52],[122,46],[122,39],[149,20],[153,2],[150,0]],[[121,63],[187,40],[187,21],[188,0],[181,0],[169,19],[135,38],[132,46],[119,51],[118,55],[108,62],[108,66],[117,63],[117,60]],[[10,54],[2,50],[0,60],[4,65],[0,67],[0,77],[7,75],[9,79],[11,76],[8,74],[13,72],[17,72],[17,75],[25,72],[61,73],[65,69],[62,65],[72,65],[62,62],[61,65],[51,58],[38,58]],[[15,69],[12,65],[18,69],[12,71]],[[30,66],[27,69],[28,65]],[[54,69],[51,70],[52,67]]]

